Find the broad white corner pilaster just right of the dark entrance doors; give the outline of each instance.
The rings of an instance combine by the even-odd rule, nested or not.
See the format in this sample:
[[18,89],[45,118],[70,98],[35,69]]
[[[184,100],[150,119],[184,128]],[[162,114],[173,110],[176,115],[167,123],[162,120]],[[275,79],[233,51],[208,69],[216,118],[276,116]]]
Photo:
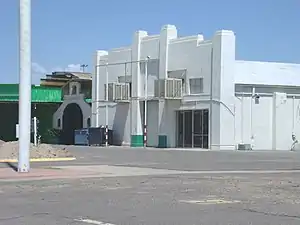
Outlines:
[[219,103],[214,103],[212,107],[212,129],[215,129],[211,131],[215,136],[212,148],[234,149],[234,33],[227,30],[217,31],[213,38],[212,53],[212,98],[219,101]]

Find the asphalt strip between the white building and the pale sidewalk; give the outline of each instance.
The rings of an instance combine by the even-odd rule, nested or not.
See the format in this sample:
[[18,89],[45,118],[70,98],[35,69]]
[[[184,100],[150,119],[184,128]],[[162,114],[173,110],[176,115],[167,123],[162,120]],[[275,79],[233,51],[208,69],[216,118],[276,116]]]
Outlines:
[[78,158],[77,161],[67,162],[72,165],[122,165],[177,170],[300,169],[300,152],[290,151],[178,151],[117,147],[68,149]]

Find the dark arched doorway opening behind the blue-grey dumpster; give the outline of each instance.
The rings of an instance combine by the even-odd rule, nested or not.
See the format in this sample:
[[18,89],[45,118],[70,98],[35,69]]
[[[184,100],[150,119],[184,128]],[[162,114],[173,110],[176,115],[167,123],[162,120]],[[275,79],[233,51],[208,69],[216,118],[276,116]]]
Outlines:
[[61,142],[66,145],[74,144],[74,130],[83,127],[83,114],[79,105],[71,103],[63,113],[63,129]]

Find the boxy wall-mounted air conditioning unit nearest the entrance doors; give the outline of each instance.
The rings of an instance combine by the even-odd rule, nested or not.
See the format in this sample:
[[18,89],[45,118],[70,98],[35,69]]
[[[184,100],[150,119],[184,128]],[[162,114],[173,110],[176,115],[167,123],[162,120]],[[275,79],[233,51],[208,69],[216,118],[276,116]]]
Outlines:
[[155,80],[154,97],[164,99],[181,99],[182,80],[175,78]]

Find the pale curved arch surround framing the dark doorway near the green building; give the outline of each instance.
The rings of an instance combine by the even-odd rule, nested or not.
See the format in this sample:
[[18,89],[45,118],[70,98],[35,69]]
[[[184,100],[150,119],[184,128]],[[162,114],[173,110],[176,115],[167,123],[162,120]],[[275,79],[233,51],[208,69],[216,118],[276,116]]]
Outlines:
[[63,124],[63,114],[64,110],[67,107],[67,105],[76,103],[79,105],[82,111],[83,115],[83,128],[88,127],[88,119],[91,118],[91,107],[88,103],[84,101],[83,95],[70,95],[65,96],[63,103],[60,105],[60,107],[56,110],[56,112],[53,114],[53,128],[55,129],[62,129],[62,127],[58,127],[58,119],[60,119],[61,124]]

